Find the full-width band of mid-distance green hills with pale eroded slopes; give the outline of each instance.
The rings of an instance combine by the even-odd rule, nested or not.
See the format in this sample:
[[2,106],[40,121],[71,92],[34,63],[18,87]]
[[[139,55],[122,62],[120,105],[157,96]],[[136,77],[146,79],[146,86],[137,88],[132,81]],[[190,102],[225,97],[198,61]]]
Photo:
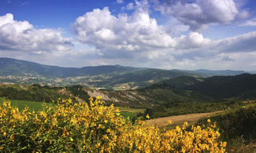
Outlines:
[[[84,102],[102,96],[106,104],[146,108],[152,118],[199,112],[220,111],[236,107],[243,100],[256,99],[256,75],[194,78],[178,76],[141,89],[115,91],[83,86],[50,87],[34,84],[0,86],[0,97],[13,100],[46,101],[72,98]],[[144,115],[145,116],[145,115]]]

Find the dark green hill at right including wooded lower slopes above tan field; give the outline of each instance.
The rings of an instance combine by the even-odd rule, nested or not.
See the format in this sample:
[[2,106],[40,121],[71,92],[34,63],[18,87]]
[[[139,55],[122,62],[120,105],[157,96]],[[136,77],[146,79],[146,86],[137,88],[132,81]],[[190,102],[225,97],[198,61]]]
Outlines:
[[256,75],[193,78],[180,76],[139,89],[154,101],[144,115],[152,118],[224,110],[256,99]]

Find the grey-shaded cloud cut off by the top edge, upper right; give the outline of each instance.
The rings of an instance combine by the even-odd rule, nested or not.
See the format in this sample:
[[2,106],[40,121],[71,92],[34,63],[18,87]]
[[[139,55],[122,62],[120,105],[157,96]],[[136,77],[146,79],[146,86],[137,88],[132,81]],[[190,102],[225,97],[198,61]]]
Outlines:
[[175,16],[192,31],[203,31],[209,24],[231,24],[246,18],[249,13],[240,10],[233,0],[164,0],[155,1],[162,14]]

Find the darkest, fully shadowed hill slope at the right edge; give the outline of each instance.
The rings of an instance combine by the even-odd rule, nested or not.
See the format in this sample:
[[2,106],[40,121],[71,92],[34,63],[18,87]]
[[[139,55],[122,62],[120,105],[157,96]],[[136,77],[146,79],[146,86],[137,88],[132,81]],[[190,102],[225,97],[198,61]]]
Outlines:
[[214,76],[184,89],[193,90],[214,99],[243,97],[244,93],[256,91],[256,75]]

